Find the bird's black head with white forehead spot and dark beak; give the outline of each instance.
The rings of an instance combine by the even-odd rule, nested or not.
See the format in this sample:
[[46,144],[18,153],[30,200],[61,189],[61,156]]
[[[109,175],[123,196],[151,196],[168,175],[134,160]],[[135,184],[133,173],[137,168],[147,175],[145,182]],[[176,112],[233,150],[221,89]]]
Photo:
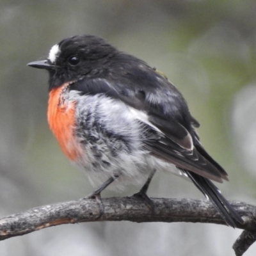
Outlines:
[[102,71],[118,50],[103,38],[93,35],[73,36],[53,45],[47,60],[28,63],[49,71],[50,89]]

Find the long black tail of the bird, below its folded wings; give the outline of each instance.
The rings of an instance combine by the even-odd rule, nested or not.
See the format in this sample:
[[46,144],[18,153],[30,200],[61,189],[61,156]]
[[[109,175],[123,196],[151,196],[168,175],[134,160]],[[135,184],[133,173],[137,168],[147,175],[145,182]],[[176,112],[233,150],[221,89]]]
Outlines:
[[221,195],[220,190],[211,182],[211,180],[205,179],[196,173],[188,171],[185,172],[188,174],[188,177],[193,181],[195,186],[211,200],[212,204],[217,207],[218,212],[220,212],[221,217],[225,220],[228,226],[236,228],[234,219],[239,223],[244,222],[232,205],[228,203],[227,199]]

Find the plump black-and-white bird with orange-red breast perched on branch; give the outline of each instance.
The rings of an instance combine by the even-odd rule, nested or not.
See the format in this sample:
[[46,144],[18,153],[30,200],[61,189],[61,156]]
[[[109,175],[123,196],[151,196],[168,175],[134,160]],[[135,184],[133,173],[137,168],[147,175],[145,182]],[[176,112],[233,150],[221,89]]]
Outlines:
[[228,226],[243,223],[212,182],[228,180],[227,172],[200,143],[200,124],[162,72],[95,35],[65,38],[28,66],[49,73],[49,127],[98,186],[92,195],[136,184],[136,195],[150,200],[154,174],[170,172],[191,180]]

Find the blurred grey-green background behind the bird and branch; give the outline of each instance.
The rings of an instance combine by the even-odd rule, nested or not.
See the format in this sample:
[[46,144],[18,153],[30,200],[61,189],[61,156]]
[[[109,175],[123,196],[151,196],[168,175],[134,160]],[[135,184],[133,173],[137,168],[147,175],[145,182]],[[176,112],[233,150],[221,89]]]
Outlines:
[[[26,67],[63,38],[84,33],[163,71],[200,121],[203,145],[229,174],[230,182],[218,185],[223,195],[256,204],[255,13],[255,0],[1,0],[0,215],[92,191],[49,131],[47,73]],[[149,195],[202,198],[168,173],[155,177]],[[209,224],[81,223],[1,241],[0,255],[228,256],[240,233]]]

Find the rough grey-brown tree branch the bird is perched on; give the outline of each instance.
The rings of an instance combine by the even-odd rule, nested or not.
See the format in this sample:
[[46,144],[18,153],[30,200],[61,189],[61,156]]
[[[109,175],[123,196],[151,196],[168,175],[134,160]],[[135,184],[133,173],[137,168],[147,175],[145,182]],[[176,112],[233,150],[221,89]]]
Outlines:
[[[154,211],[141,198],[113,197],[101,202],[93,199],[64,202],[29,209],[0,219],[0,240],[22,236],[61,224],[89,221],[134,221],[134,222],[200,222],[226,225],[211,202],[191,199],[151,198]],[[256,240],[256,207],[243,202],[233,202],[233,207],[244,223],[236,223],[245,231],[233,248],[236,255],[243,255]]]

